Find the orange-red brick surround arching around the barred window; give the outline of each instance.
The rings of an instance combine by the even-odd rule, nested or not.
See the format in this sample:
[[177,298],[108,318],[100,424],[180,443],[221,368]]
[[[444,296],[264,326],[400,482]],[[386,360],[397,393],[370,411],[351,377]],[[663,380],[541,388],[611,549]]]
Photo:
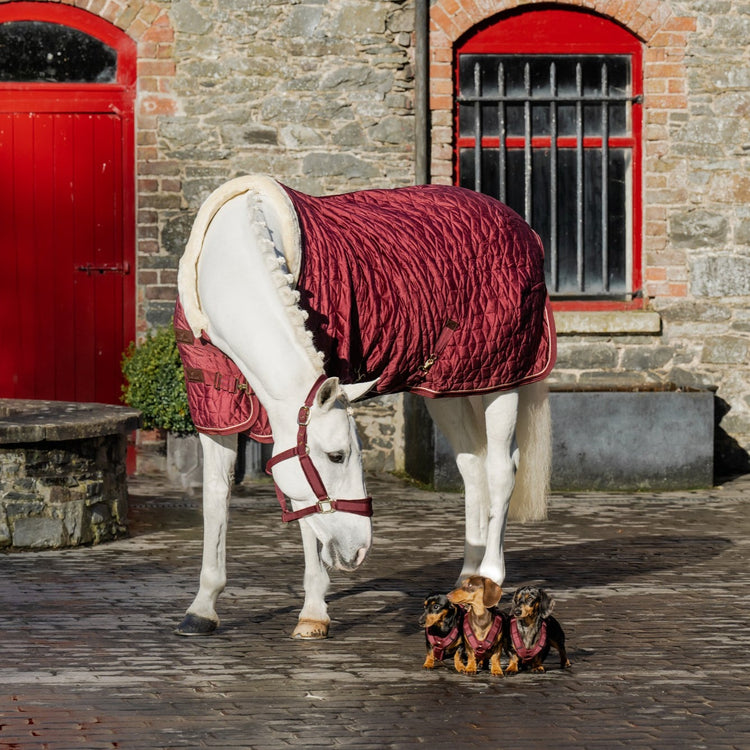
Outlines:
[[[436,183],[450,184],[454,176],[455,43],[478,24],[539,6],[528,0],[497,0],[491,10],[488,5],[477,0],[437,0],[430,9],[430,167]],[[679,199],[679,191],[657,162],[665,153],[670,119],[687,109],[685,56],[696,19],[674,15],[666,0],[575,0],[556,5],[605,16],[644,42],[645,292],[647,296],[685,296],[684,267],[674,265],[666,252],[668,208]]]

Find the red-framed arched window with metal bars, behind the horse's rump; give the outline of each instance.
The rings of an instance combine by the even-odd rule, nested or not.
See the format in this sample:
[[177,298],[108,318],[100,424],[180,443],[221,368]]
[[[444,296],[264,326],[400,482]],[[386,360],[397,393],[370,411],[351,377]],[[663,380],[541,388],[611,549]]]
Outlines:
[[510,15],[456,48],[458,184],[539,233],[551,296],[640,295],[642,45],[577,10]]

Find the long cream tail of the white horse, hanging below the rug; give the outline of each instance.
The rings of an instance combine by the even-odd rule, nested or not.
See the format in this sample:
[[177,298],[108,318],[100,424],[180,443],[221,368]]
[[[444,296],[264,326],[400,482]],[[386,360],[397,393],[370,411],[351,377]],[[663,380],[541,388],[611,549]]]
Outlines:
[[547,517],[552,467],[552,422],[545,381],[525,385],[518,392],[516,442],[519,465],[508,515],[516,521]]

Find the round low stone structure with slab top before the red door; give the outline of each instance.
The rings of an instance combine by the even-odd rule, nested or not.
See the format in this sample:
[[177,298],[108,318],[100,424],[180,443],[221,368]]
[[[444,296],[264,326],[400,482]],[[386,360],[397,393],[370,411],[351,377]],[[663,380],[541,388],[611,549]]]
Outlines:
[[0,399],[0,548],[96,544],[127,533],[135,409]]

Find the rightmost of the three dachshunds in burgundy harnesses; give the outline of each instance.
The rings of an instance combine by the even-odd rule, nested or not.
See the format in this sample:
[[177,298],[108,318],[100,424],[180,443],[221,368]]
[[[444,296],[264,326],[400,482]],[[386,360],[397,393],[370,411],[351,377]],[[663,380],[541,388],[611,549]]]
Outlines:
[[542,662],[551,646],[560,654],[560,668],[570,666],[565,651],[565,633],[551,614],[554,606],[555,600],[536,586],[523,586],[513,594],[506,644],[510,659],[506,674],[516,674],[519,668],[544,672]]

